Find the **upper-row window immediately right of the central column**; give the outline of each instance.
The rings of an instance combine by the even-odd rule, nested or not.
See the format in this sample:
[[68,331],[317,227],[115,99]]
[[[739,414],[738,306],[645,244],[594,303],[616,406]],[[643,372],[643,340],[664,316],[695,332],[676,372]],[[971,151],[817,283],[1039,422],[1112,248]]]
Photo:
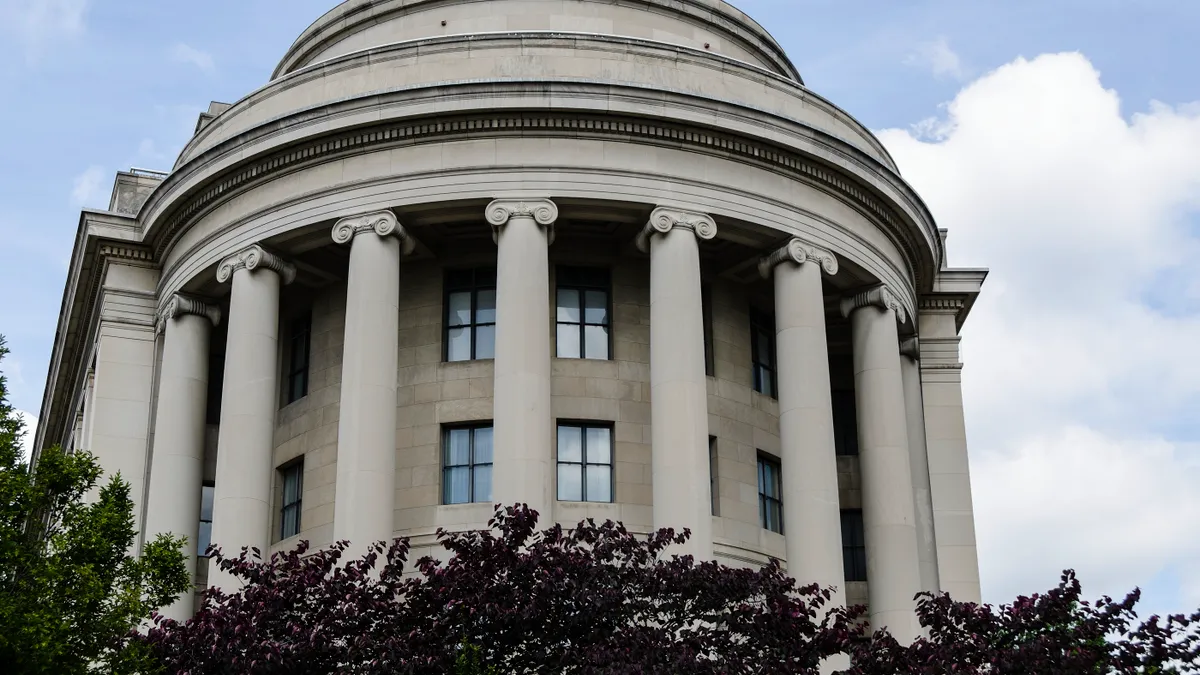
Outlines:
[[556,276],[558,358],[608,359],[608,270],[559,267]]

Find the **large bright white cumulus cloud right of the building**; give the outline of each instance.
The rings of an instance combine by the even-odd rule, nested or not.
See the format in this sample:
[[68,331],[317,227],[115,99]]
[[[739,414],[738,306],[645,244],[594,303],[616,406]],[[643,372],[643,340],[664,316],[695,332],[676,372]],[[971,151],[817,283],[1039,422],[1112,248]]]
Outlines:
[[1051,54],[881,138],[952,264],[992,269],[962,345],[985,598],[1075,567],[1096,593],[1171,575],[1194,608],[1200,107],[1126,118]]

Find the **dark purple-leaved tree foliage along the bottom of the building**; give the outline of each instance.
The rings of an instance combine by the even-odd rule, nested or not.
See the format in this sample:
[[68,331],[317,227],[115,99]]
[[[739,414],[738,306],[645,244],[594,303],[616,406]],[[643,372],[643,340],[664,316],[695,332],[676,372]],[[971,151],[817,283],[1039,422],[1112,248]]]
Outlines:
[[[497,509],[482,532],[438,532],[446,562],[407,567],[409,545],[307,544],[217,563],[245,583],[210,591],[187,623],[158,617],[132,639],[170,673],[817,673],[850,675],[1196,673],[1200,614],[1138,623],[1123,602],[1080,599],[1073,573],[1001,608],[924,596],[928,638],[866,634],[862,608],[826,615],[827,590],[796,587],[778,563],[732,569],[671,555],[684,534],[619,524],[535,531],[536,513]],[[1174,670],[1172,670],[1174,669]]]

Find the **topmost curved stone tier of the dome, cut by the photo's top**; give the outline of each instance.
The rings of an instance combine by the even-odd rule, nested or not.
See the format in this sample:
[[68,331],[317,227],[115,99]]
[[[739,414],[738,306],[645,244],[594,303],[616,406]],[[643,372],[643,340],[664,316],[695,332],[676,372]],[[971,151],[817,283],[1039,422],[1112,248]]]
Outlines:
[[770,34],[724,0],[346,0],[296,38],[271,79],[396,42],[532,30],[607,34],[708,49],[803,83]]

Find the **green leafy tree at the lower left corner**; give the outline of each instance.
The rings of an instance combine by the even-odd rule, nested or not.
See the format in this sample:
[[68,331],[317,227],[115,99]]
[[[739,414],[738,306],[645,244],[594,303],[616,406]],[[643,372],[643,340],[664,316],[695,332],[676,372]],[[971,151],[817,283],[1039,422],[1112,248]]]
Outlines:
[[121,669],[128,633],[191,585],[182,542],[160,536],[130,555],[128,483],[118,474],[85,500],[96,458],[55,447],[31,467],[24,434],[0,375],[0,664],[13,675]]

